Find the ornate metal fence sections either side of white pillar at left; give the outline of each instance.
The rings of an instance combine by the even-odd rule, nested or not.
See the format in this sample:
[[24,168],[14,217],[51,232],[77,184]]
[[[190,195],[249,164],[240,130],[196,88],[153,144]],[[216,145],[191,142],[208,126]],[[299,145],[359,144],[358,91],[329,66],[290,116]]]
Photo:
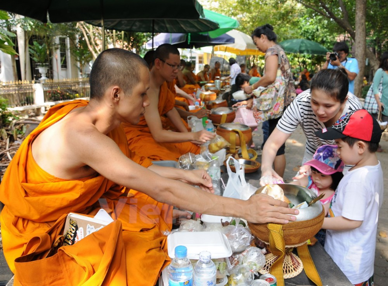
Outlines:
[[[9,107],[35,104],[35,81],[19,80],[0,83],[0,96],[8,100]],[[44,100],[70,100],[90,96],[88,79],[47,79],[43,83]]]

